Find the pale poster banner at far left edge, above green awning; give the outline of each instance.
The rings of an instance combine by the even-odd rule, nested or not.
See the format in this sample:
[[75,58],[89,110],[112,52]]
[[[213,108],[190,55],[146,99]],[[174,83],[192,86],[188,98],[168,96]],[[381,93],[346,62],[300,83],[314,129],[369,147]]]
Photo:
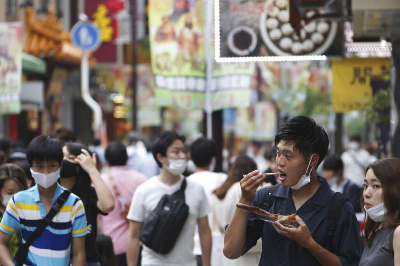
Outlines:
[[0,23],[0,114],[18,114],[22,86],[22,23]]

